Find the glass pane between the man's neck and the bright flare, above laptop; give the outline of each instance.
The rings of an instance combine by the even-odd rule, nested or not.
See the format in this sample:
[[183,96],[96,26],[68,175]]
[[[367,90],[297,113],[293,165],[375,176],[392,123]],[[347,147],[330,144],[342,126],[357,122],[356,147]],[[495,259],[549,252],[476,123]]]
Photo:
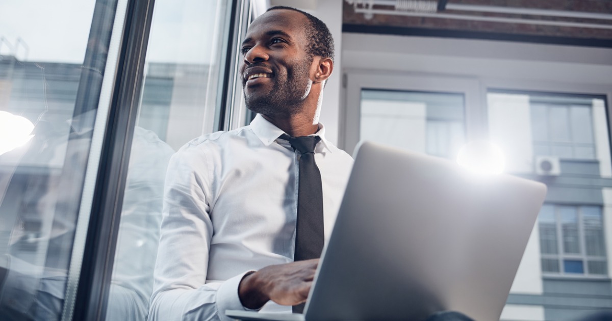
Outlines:
[[454,158],[465,141],[463,95],[364,89],[360,139]]

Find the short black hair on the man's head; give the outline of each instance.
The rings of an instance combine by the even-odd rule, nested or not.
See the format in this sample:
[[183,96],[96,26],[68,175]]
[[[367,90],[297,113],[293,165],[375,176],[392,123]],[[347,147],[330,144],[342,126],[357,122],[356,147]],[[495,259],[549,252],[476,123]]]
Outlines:
[[306,50],[311,57],[321,56],[334,61],[334,37],[332,37],[332,33],[329,32],[327,25],[323,21],[310,13],[286,6],[274,6],[266,10],[266,12],[280,9],[297,11],[308,18],[308,25],[305,26],[304,31],[308,39]]

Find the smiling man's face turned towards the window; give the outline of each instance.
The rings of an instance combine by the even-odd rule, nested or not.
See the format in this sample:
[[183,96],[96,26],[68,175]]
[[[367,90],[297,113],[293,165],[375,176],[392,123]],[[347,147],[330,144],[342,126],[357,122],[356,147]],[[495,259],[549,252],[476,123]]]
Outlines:
[[266,115],[299,112],[312,86],[306,23],[301,13],[278,9],[249,26],[240,68],[247,108]]

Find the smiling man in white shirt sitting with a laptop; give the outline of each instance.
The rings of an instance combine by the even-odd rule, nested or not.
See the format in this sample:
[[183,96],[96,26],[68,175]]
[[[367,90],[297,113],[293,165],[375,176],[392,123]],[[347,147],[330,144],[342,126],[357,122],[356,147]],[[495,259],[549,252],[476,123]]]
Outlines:
[[329,30],[308,13],[273,7],[250,25],[241,53],[245,101],[259,114],[247,127],[189,142],[171,159],[151,320],[289,312],[306,300],[318,259],[293,262],[305,157],[291,139],[320,139],[313,153],[327,237],[340,207],[353,160],[324,138],[318,121],[334,68]]

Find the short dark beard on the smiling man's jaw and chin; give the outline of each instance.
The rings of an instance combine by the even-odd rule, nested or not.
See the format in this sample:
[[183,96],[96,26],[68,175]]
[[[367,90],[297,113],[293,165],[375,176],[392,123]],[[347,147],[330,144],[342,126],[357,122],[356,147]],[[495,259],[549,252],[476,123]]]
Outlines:
[[312,86],[309,81],[311,64],[312,61],[306,59],[288,68],[286,73],[275,73],[271,78],[272,89],[267,92],[264,92],[267,89],[258,88],[247,96],[243,83],[242,92],[247,108],[264,115],[292,116],[299,113]]

